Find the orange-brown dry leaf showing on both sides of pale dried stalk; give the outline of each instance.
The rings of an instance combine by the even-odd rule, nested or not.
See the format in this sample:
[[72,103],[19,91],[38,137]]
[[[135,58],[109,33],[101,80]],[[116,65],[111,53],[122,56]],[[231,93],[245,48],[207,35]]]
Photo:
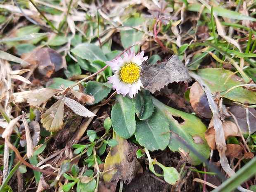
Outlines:
[[[238,129],[235,123],[233,123],[232,121],[224,121],[222,123],[223,126],[223,131],[224,131],[224,137],[225,140],[227,140],[227,138],[229,136],[237,136],[238,134]],[[209,128],[206,130],[204,137],[208,143],[208,145],[212,148],[215,149],[215,129],[213,127],[213,122],[211,121],[209,123]]]

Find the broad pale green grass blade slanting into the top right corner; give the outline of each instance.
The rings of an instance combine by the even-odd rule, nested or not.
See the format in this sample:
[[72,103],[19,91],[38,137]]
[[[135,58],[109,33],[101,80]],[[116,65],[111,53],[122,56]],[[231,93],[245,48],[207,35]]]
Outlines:
[[[201,4],[194,4],[194,5],[189,5],[187,10],[188,11],[194,11],[194,12],[201,12]],[[213,12],[221,17],[227,17],[230,19],[237,19],[237,20],[249,20],[249,21],[256,21],[256,19],[252,18],[252,17],[248,17],[244,14],[235,12],[235,11],[231,11],[228,9],[223,9],[221,7],[213,7]],[[210,14],[211,11],[207,8],[204,9],[203,13],[207,13]]]

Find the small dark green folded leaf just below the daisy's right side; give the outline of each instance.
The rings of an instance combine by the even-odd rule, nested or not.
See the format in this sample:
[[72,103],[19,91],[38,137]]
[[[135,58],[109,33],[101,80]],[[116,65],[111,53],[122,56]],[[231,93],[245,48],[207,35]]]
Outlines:
[[141,92],[133,97],[135,112],[140,120],[148,119],[154,111],[154,104],[149,96],[142,95]]

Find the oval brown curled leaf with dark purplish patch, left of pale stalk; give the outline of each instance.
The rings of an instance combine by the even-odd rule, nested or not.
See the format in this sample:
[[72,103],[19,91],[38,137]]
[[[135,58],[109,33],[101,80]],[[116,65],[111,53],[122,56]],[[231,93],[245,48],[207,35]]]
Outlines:
[[190,103],[194,111],[205,118],[211,118],[212,112],[208,104],[208,100],[204,90],[198,82],[195,82],[190,88]]

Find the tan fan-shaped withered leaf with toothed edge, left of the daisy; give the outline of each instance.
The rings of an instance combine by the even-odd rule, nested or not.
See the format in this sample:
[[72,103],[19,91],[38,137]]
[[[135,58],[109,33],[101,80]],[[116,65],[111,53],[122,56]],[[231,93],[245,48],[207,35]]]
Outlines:
[[43,127],[49,131],[61,130],[63,127],[64,100],[62,97],[41,115]]

